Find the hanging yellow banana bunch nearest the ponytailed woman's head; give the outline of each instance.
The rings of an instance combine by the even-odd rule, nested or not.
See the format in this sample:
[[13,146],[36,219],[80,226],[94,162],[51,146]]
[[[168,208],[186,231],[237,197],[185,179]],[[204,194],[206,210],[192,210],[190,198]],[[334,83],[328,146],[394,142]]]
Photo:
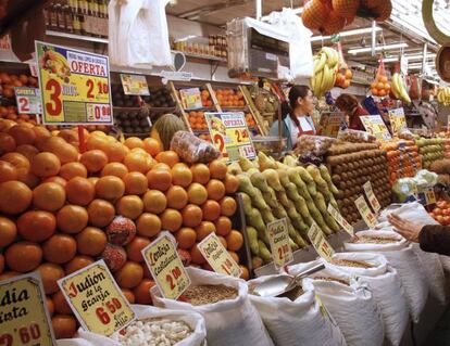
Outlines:
[[333,89],[339,71],[339,54],[329,47],[323,47],[318,54],[314,55],[314,75],[311,78],[311,87],[314,95],[322,98],[325,92]]

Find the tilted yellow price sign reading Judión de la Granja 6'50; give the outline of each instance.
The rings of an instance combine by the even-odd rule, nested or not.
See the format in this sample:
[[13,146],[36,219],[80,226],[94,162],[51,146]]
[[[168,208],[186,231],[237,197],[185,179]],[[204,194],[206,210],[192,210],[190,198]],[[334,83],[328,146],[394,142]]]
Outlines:
[[58,281],[82,326],[110,336],[135,320],[135,312],[103,260]]

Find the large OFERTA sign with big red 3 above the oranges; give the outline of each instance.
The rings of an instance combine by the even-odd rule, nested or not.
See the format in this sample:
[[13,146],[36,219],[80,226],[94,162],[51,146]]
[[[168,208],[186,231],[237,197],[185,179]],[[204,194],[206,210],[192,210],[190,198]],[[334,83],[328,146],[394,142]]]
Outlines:
[[36,41],[46,125],[112,125],[105,55]]

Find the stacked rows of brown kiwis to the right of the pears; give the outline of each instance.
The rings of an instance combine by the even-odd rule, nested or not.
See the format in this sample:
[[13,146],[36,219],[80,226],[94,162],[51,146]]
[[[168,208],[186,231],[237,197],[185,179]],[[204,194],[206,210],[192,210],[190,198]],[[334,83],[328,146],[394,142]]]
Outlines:
[[390,184],[386,152],[376,143],[339,143],[328,150],[327,164],[339,189],[336,200],[349,222],[361,219],[354,201],[364,194],[363,184],[371,181],[383,207],[390,204]]

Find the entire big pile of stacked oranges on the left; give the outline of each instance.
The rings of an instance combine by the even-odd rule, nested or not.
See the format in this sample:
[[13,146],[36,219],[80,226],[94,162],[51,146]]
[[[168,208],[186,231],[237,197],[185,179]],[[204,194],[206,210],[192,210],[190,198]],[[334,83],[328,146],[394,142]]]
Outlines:
[[126,259],[110,268],[132,303],[151,304],[154,282],[141,249],[161,230],[204,269],[197,243],[208,234],[215,232],[238,262],[243,243],[230,219],[239,180],[222,161],[188,166],[151,138],[86,138],[80,153],[76,130],[0,120],[0,281],[39,271],[58,338],[72,337],[77,325],[57,281],[108,256],[105,229],[116,216],[136,226],[121,246]]

